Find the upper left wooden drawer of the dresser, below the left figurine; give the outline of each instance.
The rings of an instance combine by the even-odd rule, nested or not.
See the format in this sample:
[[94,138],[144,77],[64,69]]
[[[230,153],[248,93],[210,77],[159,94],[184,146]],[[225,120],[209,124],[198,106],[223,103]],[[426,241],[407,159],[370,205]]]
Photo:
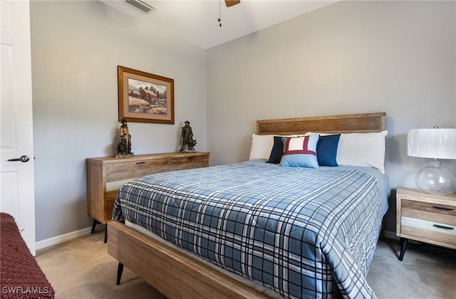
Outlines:
[[167,172],[167,168],[166,159],[109,163],[106,164],[105,167],[106,182],[118,181],[120,179],[133,179],[158,172]]

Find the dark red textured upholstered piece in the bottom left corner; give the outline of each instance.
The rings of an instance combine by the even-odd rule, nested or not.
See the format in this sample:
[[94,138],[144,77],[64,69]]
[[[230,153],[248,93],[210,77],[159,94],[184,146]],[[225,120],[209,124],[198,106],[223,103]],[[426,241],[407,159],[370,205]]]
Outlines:
[[0,213],[0,298],[54,298],[14,218]]

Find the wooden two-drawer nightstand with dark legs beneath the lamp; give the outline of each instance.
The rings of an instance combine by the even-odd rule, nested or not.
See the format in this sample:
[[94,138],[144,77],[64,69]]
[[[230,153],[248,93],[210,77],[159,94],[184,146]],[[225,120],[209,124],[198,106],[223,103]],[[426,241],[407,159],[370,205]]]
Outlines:
[[399,261],[403,260],[409,239],[456,249],[456,194],[438,196],[419,189],[398,188],[396,207]]

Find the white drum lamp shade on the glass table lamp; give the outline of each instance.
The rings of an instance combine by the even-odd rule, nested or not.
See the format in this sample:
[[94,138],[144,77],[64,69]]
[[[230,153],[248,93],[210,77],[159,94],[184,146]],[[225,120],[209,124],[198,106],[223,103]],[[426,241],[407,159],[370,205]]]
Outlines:
[[407,154],[431,159],[456,159],[456,129],[412,129]]

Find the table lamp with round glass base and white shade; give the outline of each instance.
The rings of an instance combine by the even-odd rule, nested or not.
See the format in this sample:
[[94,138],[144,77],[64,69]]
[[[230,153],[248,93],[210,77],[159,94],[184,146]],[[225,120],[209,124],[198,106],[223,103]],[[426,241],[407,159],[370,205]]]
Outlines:
[[407,154],[430,158],[415,177],[415,183],[426,193],[448,195],[456,192],[456,174],[442,166],[439,159],[456,159],[456,129],[412,129],[407,134]]

